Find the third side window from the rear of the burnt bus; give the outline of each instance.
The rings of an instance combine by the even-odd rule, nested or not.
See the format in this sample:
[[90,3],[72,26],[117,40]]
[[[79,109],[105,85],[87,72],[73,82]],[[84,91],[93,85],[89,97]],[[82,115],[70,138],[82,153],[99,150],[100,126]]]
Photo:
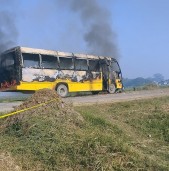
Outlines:
[[64,57],[59,57],[60,60],[60,69],[64,70],[73,70],[74,69],[74,64],[73,64],[73,58],[64,58]]

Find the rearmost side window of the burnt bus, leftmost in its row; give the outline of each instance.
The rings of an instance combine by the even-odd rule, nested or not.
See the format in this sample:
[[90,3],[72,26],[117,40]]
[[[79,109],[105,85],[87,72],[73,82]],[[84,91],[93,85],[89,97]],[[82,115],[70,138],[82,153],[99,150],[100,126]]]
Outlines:
[[24,67],[40,68],[39,54],[23,53],[22,56]]

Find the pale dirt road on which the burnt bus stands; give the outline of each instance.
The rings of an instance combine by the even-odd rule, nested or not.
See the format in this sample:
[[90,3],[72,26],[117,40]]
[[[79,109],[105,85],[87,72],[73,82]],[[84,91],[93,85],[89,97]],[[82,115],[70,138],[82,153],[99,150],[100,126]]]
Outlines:
[[[133,92],[123,92],[118,94],[99,94],[90,96],[78,96],[78,97],[68,97],[63,100],[66,102],[73,103],[74,106],[79,105],[93,105],[101,103],[115,103],[122,101],[131,101],[138,99],[148,99],[154,97],[169,96],[169,88],[157,89],[157,90],[146,90],[146,91],[133,91]],[[0,112],[11,111],[14,106],[20,105],[21,102],[12,103],[0,103]]]

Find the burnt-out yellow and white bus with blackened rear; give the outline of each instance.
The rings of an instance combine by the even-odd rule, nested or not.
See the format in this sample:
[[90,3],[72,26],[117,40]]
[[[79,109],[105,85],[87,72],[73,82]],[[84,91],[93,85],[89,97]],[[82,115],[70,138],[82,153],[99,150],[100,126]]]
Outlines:
[[118,61],[111,57],[15,47],[0,55],[0,90],[54,89],[115,93],[123,88]]

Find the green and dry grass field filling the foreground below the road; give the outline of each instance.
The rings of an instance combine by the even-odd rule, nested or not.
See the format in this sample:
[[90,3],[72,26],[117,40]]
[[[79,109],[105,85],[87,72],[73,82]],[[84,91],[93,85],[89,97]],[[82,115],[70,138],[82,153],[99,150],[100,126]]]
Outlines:
[[169,170],[169,97],[74,110],[83,122],[57,121],[53,108],[1,129],[1,158],[12,170]]

